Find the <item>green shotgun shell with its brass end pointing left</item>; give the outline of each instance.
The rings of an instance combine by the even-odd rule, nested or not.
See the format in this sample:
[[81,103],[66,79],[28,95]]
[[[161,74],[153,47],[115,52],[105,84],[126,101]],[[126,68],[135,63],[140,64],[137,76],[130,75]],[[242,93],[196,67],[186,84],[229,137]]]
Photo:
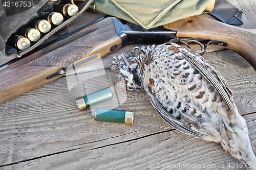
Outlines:
[[90,106],[97,105],[101,102],[107,101],[113,98],[113,93],[109,87],[103,88],[99,91],[81,96],[76,99],[76,105],[79,110],[89,108]]

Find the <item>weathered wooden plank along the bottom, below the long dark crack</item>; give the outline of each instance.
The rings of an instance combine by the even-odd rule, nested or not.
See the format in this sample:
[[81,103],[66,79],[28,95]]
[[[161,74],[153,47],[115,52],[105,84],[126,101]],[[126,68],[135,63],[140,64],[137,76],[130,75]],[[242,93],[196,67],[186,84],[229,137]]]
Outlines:
[[[251,125],[249,124],[250,129]],[[253,138],[255,139],[255,136]],[[151,169],[153,166],[161,166],[165,169],[177,169],[173,166],[181,165],[180,169],[221,169],[220,164],[224,164],[225,168],[222,169],[229,169],[227,167],[229,163],[240,164],[238,160],[224,154],[219,144],[188,137],[178,131],[162,131],[111,144],[106,144],[106,140],[108,139],[104,140],[103,147],[89,149],[87,147],[89,143],[84,143],[67,153],[41,157],[11,167],[15,169]],[[191,168],[193,165],[201,168]],[[4,169],[8,169],[8,166]]]

